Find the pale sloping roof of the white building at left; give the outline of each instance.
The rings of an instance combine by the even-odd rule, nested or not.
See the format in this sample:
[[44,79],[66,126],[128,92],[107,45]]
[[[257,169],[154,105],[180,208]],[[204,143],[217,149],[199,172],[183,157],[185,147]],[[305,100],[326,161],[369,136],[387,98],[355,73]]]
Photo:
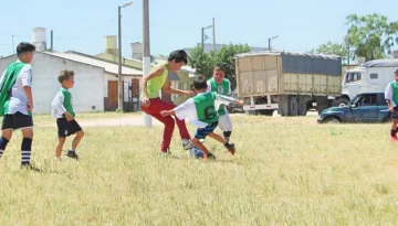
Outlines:
[[[105,61],[102,61],[102,60],[98,60],[95,57],[84,56],[82,54],[76,54],[76,53],[71,53],[71,52],[69,52],[69,53],[46,52],[46,54],[67,58],[67,60],[75,61],[75,62],[90,64],[93,66],[103,67],[106,73],[109,73],[113,75],[118,75],[118,65],[115,63],[109,63],[109,62],[105,62]],[[127,76],[143,76],[143,72],[139,69],[134,69],[130,67],[122,66],[122,75],[124,75],[124,76],[126,76],[126,75]]]

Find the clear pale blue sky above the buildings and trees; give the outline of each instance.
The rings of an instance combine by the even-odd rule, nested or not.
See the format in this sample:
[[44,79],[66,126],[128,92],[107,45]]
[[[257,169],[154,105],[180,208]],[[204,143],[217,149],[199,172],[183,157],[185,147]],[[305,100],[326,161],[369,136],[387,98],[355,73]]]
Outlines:
[[[48,47],[53,30],[55,51],[103,53],[105,35],[117,35],[117,7],[128,1],[1,0],[0,56],[13,54],[19,42],[31,42],[33,28],[46,29]],[[376,12],[396,21],[396,0],[149,0],[150,54],[193,47],[212,18],[216,43],[268,47],[268,39],[279,35],[272,47],[301,53],[342,42],[348,14]],[[143,1],[122,9],[122,53],[128,57],[130,43],[143,41]],[[211,29],[206,34],[212,43]]]

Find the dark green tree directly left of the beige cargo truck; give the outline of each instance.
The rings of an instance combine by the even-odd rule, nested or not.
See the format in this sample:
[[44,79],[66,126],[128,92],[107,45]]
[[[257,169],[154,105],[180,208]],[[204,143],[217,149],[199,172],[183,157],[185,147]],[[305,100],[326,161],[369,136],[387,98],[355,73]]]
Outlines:
[[232,89],[235,87],[235,65],[234,56],[240,53],[248,53],[251,47],[248,44],[229,44],[223,45],[219,51],[205,53],[200,46],[191,51],[188,64],[196,68],[197,75],[205,75],[210,78],[212,68],[218,65],[226,69],[226,77],[230,79]]

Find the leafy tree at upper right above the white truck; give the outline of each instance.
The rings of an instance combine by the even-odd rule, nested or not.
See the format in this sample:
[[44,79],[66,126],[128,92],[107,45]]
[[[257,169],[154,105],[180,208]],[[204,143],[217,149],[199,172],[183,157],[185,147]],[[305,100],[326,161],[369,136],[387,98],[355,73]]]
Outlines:
[[347,41],[352,46],[353,57],[363,56],[371,61],[391,54],[398,34],[398,21],[389,22],[388,18],[378,13],[346,18],[348,25]]

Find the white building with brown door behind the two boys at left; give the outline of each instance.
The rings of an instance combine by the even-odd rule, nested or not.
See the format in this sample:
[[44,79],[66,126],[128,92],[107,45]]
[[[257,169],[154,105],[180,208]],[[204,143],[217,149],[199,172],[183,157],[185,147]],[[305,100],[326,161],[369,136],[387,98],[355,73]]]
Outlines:
[[[40,34],[36,34],[41,32]],[[115,110],[118,104],[118,66],[76,53],[45,52],[45,30],[33,29],[33,44],[36,45],[33,68],[34,114],[50,114],[51,100],[60,88],[57,76],[62,69],[75,72],[75,86],[71,89],[76,112]],[[43,44],[44,43],[44,44]],[[41,52],[44,51],[44,52]],[[17,61],[17,55],[0,58],[0,73]],[[139,69],[122,67],[124,80],[124,104],[127,110],[137,110],[138,80],[143,76]],[[133,106],[133,104],[135,104]]]

